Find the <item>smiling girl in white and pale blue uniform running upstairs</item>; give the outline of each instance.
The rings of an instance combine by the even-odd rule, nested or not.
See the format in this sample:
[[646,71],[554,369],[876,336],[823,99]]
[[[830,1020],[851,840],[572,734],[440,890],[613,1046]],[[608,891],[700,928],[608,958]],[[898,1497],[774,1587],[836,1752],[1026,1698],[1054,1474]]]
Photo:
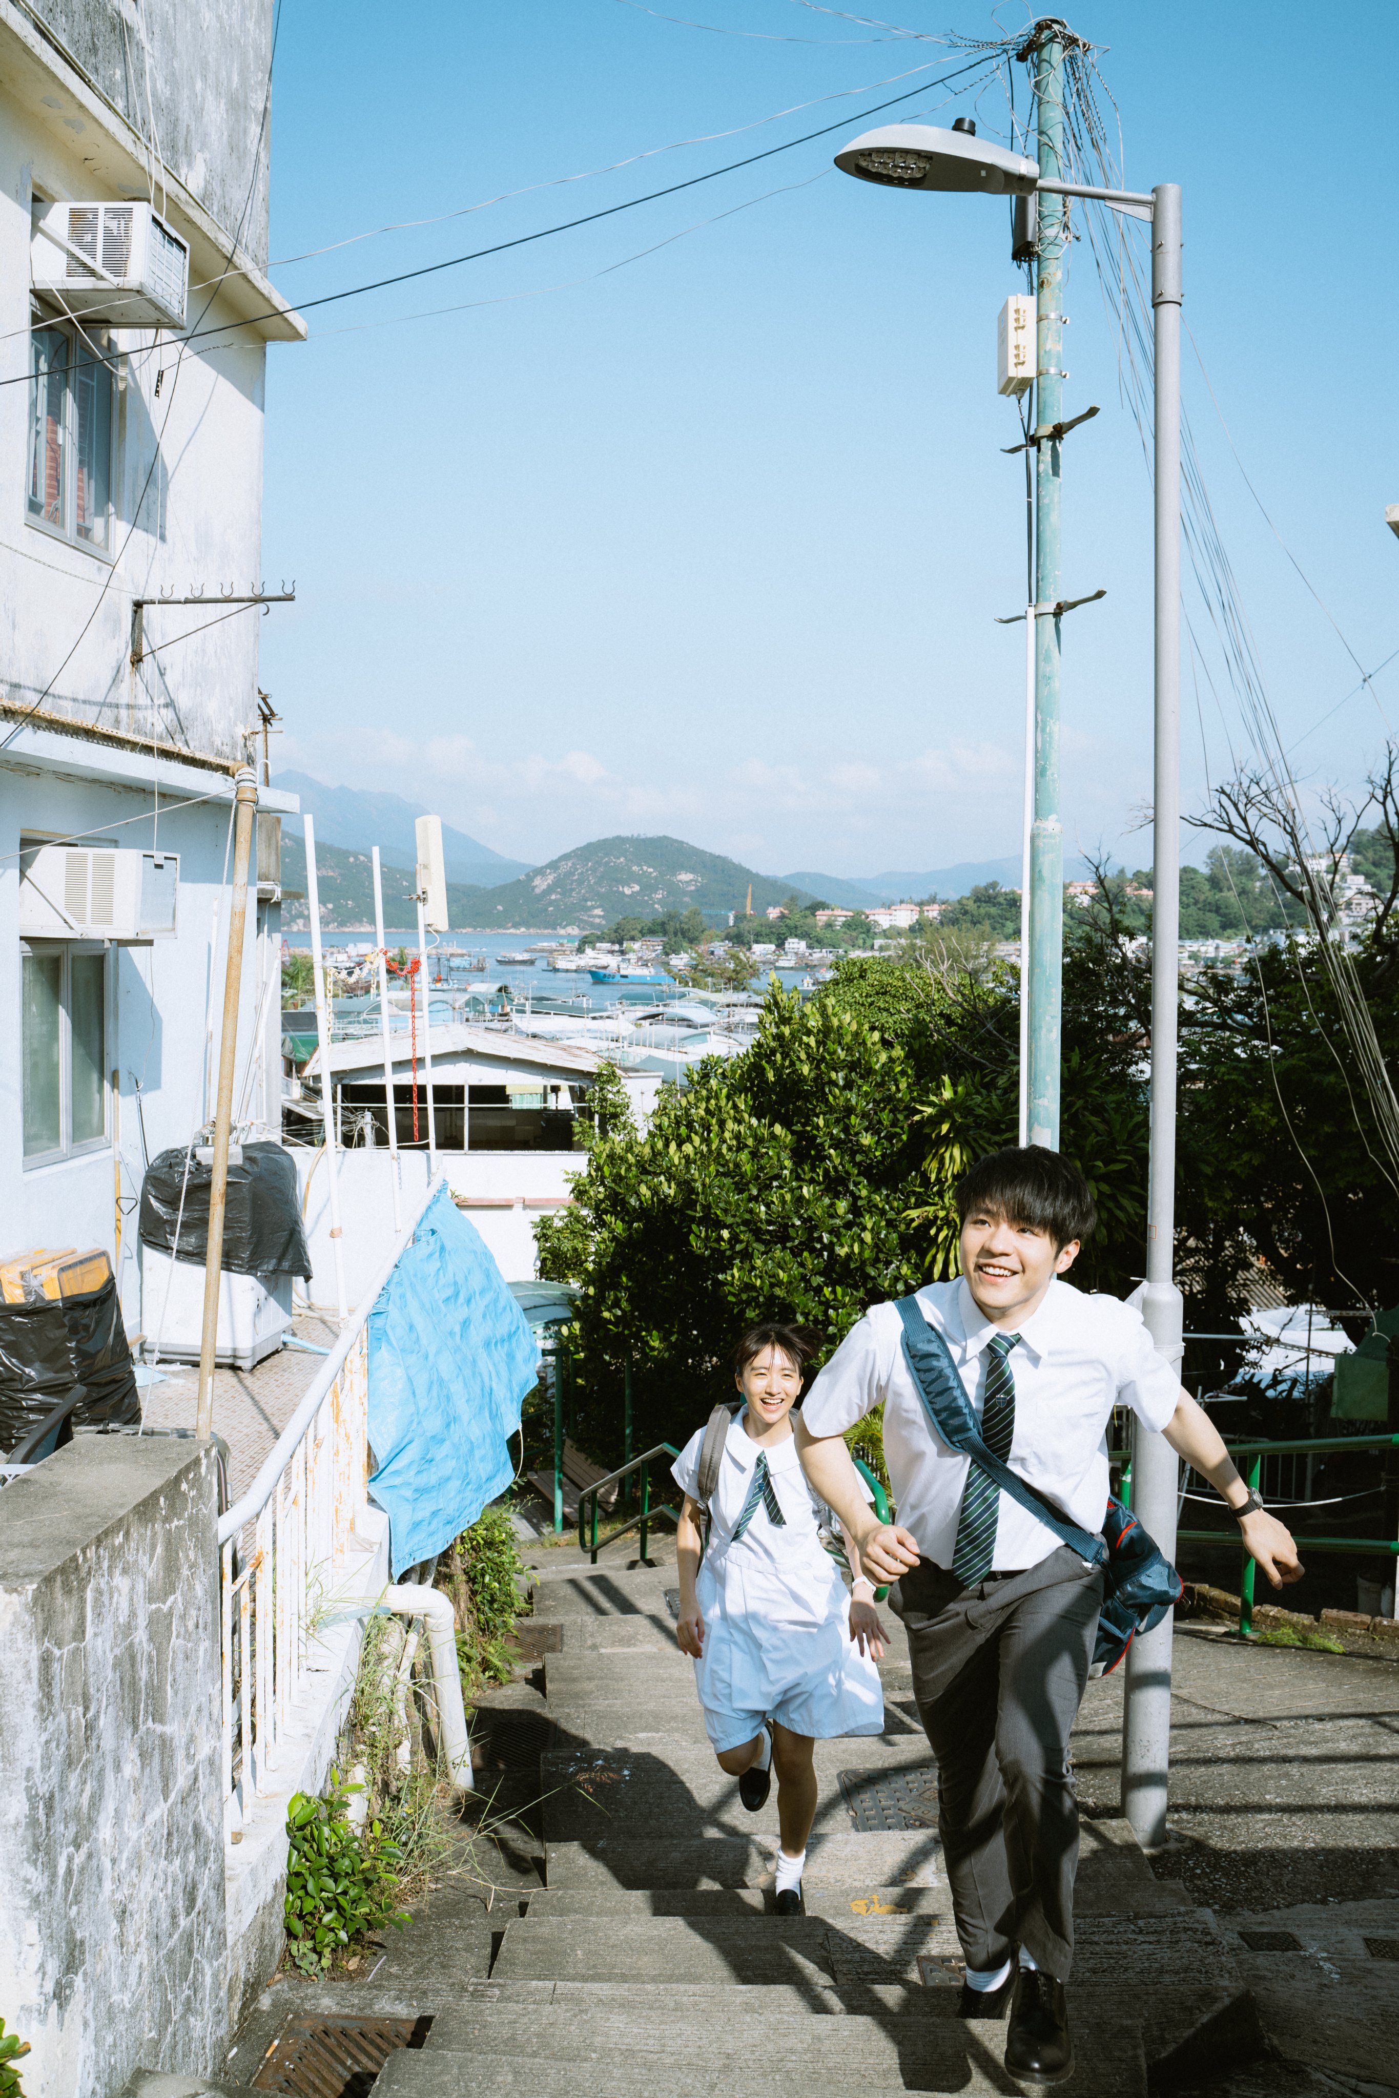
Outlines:
[[801,1867],[816,1819],[812,1743],[883,1733],[875,1662],[885,1634],[875,1588],[845,1538],[854,1599],[820,1542],[822,1504],[797,1458],[791,1412],[814,1353],[795,1326],[753,1326],[734,1349],[745,1406],[730,1422],[701,1534],[698,1429],[677,1456],[684,1492],[675,1561],[682,1653],[694,1657],[705,1731],[719,1769],[757,1813],[778,1777],[778,1915],[801,1915]]

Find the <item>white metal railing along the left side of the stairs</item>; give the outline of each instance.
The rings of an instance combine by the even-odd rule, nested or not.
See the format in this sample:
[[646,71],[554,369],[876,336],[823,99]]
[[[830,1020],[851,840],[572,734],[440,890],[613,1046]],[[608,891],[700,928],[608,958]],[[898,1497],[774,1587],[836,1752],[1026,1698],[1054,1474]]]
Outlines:
[[317,1622],[369,1544],[369,1313],[445,1181],[405,1217],[365,1292],[243,1498],[218,1523],[222,1787],[229,1838],[277,1790],[277,1748],[306,1689]]

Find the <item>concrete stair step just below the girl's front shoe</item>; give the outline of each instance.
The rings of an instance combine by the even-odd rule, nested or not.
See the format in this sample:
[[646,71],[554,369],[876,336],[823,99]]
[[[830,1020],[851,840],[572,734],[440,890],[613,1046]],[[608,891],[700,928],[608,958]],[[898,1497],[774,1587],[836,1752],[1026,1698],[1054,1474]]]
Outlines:
[[501,1981],[782,1983],[835,1981],[820,1918],[543,1915],[505,1926]]

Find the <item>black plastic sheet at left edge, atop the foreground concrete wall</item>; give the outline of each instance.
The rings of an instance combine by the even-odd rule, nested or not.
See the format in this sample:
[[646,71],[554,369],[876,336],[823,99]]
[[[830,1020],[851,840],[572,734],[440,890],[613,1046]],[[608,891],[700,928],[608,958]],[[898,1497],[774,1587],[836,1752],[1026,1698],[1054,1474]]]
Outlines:
[[115,1280],[65,1303],[0,1305],[0,1452],[10,1452],[76,1385],[73,1427],[126,1427],[141,1393]]

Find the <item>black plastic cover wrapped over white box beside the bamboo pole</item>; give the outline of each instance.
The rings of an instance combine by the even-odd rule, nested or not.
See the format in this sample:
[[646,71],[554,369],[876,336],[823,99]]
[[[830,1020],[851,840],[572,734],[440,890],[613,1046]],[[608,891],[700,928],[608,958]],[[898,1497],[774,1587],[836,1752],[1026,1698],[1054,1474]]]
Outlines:
[[[189,1160],[189,1179],[187,1179]],[[141,1183],[141,1240],[176,1261],[203,1267],[210,1236],[210,1183],[214,1169],[176,1146],[147,1166]],[[185,1211],[180,1213],[180,1187]],[[176,1246],[176,1217],[180,1242]],[[222,1271],[229,1276],[302,1276],[310,1255],[302,1229],[296,1160],[281,1143],[245,1143],[243,1162],[229,1166]]]

